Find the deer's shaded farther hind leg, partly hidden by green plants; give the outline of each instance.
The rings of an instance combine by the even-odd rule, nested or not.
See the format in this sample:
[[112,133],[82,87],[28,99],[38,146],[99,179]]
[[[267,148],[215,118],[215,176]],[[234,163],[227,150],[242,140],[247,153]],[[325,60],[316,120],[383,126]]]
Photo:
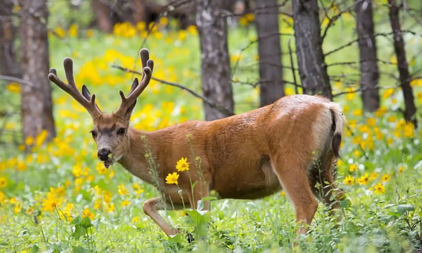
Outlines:
[[[342,219],[342,208],[340,201],[345,196],[334,182],[333,172],[336,156],[330,150],[326,155],[320,157],[315,162],[311,172],[311,186],[315,196],[321,198],[331,209],[331,214],[335,214],[337,219]],[[319,185],[318,187],[316,185]]]

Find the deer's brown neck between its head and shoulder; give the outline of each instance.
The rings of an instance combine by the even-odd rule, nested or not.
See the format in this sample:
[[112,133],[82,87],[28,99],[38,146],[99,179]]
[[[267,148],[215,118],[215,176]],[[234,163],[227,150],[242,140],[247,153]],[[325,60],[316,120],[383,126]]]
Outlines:
[[155,150],[151,134],[129,127],[128,137],[125,154],[118,162],[143,181],[156,184],[152,176],[154,173],[150,173],[151,161],[153,161],[150,157]]

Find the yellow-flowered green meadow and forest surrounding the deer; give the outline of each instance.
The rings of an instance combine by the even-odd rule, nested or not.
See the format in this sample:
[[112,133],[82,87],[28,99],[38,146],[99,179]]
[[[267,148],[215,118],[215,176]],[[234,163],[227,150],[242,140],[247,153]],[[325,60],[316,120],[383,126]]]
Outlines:
[[[153,80],[132,126],[150,131],[292,94],[326,96],[347,118],[337,181],[351,202],[342,203],[340,226],[320,206],[299,248],[421,251],[421,35],[421,0],[1,0],[0,250],[295,247],[283,192],[215,201],[206,246],[192,246],[146,219],[141,203],[156,190],[98,163],[90,117],[49,82],[49,68],[64,76],[71,57],[78,88],[87,85],[111,112],[147,48]],[[166,219],[198,226],[177,212]]]

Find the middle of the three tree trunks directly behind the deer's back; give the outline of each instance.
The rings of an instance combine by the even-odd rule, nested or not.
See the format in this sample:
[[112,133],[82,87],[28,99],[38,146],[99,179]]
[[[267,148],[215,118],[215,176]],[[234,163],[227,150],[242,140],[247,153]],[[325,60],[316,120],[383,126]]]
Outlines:
[[[257,0],[255,23],[258,33],[261,107],[284,96],[277,0]],[[273,6],[266,8],[266,6]]]

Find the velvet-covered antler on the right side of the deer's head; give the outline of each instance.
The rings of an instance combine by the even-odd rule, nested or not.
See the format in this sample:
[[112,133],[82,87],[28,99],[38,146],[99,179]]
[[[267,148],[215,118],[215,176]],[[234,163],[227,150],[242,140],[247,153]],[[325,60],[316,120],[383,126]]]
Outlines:
[[148,50],[141,49],[141,51],[139,52],[139,55],[141,57],[142,70],[143,70],[141,83],[138,85],[138,79],[135,78],[134,83],[132,84],[132,87],[135,87],[135,89],[129,94],[128,97],[125,97],[125,94],[123,93],[122,90],[119,91],[122,102],[120,104],[119,109],[117,109],[116,114],[121,115],[121,116],[124,116],[127,110],[130,108],[130,106],[136,102],[139,95],[141,95],[142,91],[148,85],[152,76],[152,68],[154,67],[154,62],[149,59]]

